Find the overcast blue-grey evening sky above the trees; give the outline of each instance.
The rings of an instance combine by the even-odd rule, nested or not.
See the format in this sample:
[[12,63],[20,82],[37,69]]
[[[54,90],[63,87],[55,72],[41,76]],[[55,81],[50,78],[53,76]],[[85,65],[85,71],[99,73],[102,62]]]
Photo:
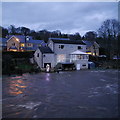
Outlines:
[[118,19],[117,2],[3,2],[2,25],[62,33],[96,31],[106,19]]

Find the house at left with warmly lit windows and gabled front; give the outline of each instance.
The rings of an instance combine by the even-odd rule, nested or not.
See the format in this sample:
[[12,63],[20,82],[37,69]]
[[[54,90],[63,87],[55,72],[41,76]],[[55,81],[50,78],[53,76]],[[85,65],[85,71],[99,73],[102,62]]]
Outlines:
[[7,51],[35,51],[45,46],[43,40],[34,40],[31,36],[11,35],[6,41]]

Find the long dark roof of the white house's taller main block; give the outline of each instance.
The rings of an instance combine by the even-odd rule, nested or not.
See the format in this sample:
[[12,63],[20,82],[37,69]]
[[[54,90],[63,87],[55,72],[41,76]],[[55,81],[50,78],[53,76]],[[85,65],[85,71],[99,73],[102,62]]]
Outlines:
[[85,45],[81,40],[58,40],[58,39],[51,39],[54,43],[63,43],[63,44],[82,44]]

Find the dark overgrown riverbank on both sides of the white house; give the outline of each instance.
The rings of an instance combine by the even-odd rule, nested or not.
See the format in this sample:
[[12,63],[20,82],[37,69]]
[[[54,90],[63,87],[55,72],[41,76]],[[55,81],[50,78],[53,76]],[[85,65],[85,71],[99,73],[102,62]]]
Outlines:
[[[23,74],[46,72],[45,68],[40,69],[37,64],[32,64],[30,58],[33,52],[3,52],[2,53],[2,74]],[[120,60],[98,60],[94,69],[120,69]],[[67,69],[66,69],[67,70]],[[68,69],[69,71],[69,69]],[[51,69],[50,72],[59,72],[59,70]]]

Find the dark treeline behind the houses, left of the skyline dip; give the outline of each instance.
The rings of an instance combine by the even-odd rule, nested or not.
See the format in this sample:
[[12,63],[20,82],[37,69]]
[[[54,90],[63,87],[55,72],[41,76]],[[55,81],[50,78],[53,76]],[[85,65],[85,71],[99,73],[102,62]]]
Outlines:
[[40,30],[40,31],[35,31],[31,30],[27,27],[18,27],[16,28],[14,25],[10,25],[8,28],[0,27],[2,29],[2,36],[5,38],[7,35],[28,35],[32,36],[33,39],[36,40],[44,40],[45,42],[48,41],[49,37],[54,37],[54,38],[70,38],[73,40],[81,40],[81,35],[79,33],[75,34],[64,34],[61,33],[59,30],[55,31],[48,31],[48,30]]

